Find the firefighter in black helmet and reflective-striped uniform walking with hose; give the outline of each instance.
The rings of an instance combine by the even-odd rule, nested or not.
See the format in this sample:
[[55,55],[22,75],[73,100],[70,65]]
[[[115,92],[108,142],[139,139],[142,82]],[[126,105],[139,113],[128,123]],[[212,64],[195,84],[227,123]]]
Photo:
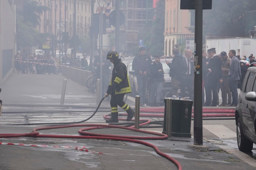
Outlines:
[[118,123],[118,109],[117,105],[124,109],[128,114],[126,121],[131,121],[135,112],[132,108],[123,101],[124,94],[131,93],[131,86],[127,75],[127,69],[124,63],[121,62],[119,54],[116,51],[109,51],[107,59],[113,63],[114,68],[112,71],[112,78],[108,86],[108,96],[111,94],[110,106],[111,106],[111,118],[106,120],[107,123]]

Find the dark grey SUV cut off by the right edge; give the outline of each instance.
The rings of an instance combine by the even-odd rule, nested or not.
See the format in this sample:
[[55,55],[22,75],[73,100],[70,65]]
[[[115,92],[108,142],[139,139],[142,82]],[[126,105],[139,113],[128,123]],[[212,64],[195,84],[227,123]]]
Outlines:
[[256,143],[256,62],[248,68],[235,111],[237,145],[242,152],[251,152]]

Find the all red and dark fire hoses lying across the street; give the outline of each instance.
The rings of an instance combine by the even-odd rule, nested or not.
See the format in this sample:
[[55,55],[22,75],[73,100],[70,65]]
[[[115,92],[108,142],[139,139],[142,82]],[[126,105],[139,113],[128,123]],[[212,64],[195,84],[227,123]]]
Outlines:
[[[123,126],[117,126],[117,125],[102,125],[102,124],[78,124],[78,123],[83,123],[89,119],[91,119],[97,112],[99,106],[101,105],[102,101],[105,99],[106,96],[102,98],[102,100],[99,102],[98,107],[96,108],[95,112],[87,119],[79,121],[79,122],[65,122],[65,123],[34,123],[34,124],[15,124],[15,125],[59,125],[59,126],[49,126],[49,127],[39,127],[39,128],[34,128],[32,132],[30,133],[24,133],[24,134],[0,134],[0,137],[2,138],[9,138],[9,137],[52,137],[52,138],[90,138],[90,139],[108,139],[108,140],[121,140],[121,141],[129,141],[129,142],[135,142],[135,143],[140,143],[149,147],[154,148],[154,150],[159,154],[160,156],[165,157],[166,159],[170,160],[173,162],[178,170],[181,170],[182,167],[178,161],[170,157],[169,155],[161,152],[159,148],[149,142],[141,141],[141,140],[162,140],[162,139],[167,139],[168,136],[166,134],[162,133],[157,133],[157,132],[150,132],[150,131],[145,131],[145,130],[138,130],[134,129],[134,126],[127,125],[130,127],[123,127]],[[225,111],[225,114],[223,112]],[[150,109],[141,109],[140,112],[147,112],[147,113],[164,113],[164,108],[150,108]],[[208,114],[209,117],[233,117],[234,116],[234,110],[215,110],[215,109],[203,109],[203,113],[222,113],[222,114]],[[120,116],[127,116],[127,114],[119,114]],[[108,115],[104,115],[105,119],[108,119]],[[163,117],[163,114],[140,114],[140,116],[145,116],[145,117]],[[205,117],[207,117],[205,115]],[[119,119],[125,121],[125,119]],[[142,121],[140,123],[140,126],[149,124],[151,121],[150,120],[140,120]],[[158,122],[156,122],[158,123]],[[62,125],[65,124],[65,125]],[[67,125],[68,124],[68,125]],[[71,125],[70,125],[71,124]],[[75,124],[75,125],[73,125]],[[14,125],[14,124],[12,124]],[[81,135],[48,135],[48,134],[40,134],[38,131],[39,130],[47,130],[47,129],[57,129],[57,128],[70,128],[70,127],[89,127],[89,128],[82,128],[78,132]],[[147,133],[147,134],[152,134],[152,135],[157,135],[155,136],[150,136],[150,137],[145,137],[145,136],[122,136],[122,135],[108,135],[108,134],[94,134],[94,133],[89,133],[85,132],[87,130],[92,130],[92,129],[101,129],[101,128],[118,128],[118,129],[126,129],[126,130],[132,130],[136,132],[141,132],[141,133]],[[86,135],[86,136],[85,136]],[[140,140],[139,140],[140,139]]]

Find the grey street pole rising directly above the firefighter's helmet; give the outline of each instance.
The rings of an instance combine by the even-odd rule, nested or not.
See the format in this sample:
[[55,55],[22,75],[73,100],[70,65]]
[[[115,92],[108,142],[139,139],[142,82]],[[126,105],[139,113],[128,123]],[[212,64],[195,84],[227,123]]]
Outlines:
[[120,51],[120,2],[116,0],[116,30],[115,30],[115,48],[119,53]]

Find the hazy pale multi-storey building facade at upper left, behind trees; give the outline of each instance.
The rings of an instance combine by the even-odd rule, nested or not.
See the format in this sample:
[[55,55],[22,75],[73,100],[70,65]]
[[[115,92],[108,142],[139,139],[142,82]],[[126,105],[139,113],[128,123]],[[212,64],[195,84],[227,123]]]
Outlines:
[[[91,0],[36,1],[49,8],[41,15],[41,25],[38,31],[52,35],[52,48],[55,50],[64,53],[64,44],[68,48],[68,42],[74,34],[74,29],[76,29],[78,37],[90,36]],[[74,4],[75,2],[76,4]],[[75,27],[74,22],[76,22]]]

